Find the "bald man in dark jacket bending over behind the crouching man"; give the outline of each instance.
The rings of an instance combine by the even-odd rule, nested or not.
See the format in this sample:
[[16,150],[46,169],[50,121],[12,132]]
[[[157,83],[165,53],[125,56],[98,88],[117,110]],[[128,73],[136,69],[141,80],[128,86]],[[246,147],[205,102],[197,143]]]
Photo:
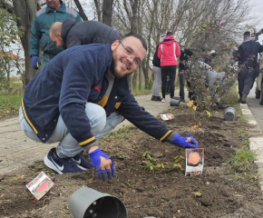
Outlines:
[[97,21],[77,23],[73,18],[65,19],[63,23],[55,22],[49,35],[56,46],[64,49],[75,45],[112,44],[122,37],[108,25]]

